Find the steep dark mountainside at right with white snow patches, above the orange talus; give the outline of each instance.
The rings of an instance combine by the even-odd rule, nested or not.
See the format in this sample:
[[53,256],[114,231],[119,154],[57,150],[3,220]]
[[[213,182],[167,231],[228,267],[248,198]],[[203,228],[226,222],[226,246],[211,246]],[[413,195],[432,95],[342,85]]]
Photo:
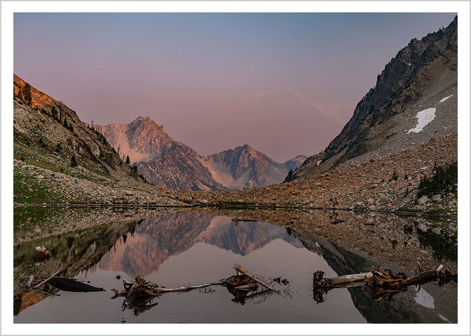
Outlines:
[[[385,157],[456,132],[457,29],[455,17],[447,28],[422,40],[413,39],[401,49],[357,104],[340,134],[323,153],[306,160],[291,180],[338,168],[349,160],[358,164]],[[429,123],[411,131],[425,110]]]

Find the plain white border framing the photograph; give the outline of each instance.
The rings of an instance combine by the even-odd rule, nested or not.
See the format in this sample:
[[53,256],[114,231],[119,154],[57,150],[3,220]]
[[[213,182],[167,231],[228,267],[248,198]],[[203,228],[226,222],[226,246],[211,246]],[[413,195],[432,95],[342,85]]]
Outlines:
[[[458,12],[459,309],[457,325],[13,325],[12,178],[14,12]],[[1,2],[1,335],[470,335],[470,2],[469,1],[2,1]],[[465,282],[468,280],[468,286]],[[463,302],[465,301],[465,302]]]

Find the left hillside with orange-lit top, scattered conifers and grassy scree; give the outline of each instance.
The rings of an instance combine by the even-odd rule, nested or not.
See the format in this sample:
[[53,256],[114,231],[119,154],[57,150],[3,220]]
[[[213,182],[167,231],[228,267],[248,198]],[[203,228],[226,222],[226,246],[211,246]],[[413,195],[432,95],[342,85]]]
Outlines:
[[13,90],[14,202],[183,205],[145,183],[63,102],[16,75]]

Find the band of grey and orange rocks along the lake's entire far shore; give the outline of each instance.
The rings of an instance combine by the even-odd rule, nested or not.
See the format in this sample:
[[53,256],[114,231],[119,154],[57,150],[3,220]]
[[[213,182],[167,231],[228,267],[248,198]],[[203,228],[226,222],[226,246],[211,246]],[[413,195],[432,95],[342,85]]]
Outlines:
[[[126,206],[343,209],[457,216],[457,193],[417,198],[420,179],[457,162],[458,134],[431,138],[413,148],[314,177],[267,187],[189,191],[91,181],[14,160],[15,206]],[[396,179],[392,176],[396,175]],[[27,193],[30,192],[30,195]],[[39,199],[38,195],[43,195]],[[432,197],[433,196],[433,197]],[[55,200],[60,200],[57,202]]]

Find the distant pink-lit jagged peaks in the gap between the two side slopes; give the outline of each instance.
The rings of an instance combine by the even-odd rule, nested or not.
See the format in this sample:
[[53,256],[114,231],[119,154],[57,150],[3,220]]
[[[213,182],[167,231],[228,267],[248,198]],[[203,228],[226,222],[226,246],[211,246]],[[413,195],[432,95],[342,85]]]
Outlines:
[[299,155],[283,164],[248,145],[201,157],[174,141],[149,117],[129,124],[97,126],[121,158],[129,155],[137,169],[156,186],[179,190],[236,189],[281,182],[290,169],[301,166]]

